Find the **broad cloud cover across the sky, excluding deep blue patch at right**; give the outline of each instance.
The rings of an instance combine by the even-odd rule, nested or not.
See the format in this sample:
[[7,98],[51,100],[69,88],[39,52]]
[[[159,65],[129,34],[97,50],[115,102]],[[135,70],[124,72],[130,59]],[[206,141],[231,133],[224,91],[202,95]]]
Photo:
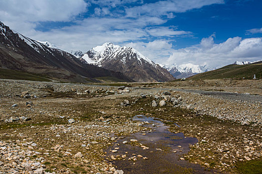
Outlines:
[[[174,48],[176,39],[196,38],[196,33],[170,21],[175,21],[179,13],[223,3],[224,0],[1,0],[0,21],[25,36],[49,41],[68,52],[88,51],[113,42],[134,47],[160,64],[208,64],[213,68],[236,60],[262,60],[261,38],[233,37],[216,44],[213,34],[197,45]],[[39,31],[44,22],[47,29]],[[69,25],[48,28],[51,22]],[[262,33],[262,28],[247,30],[247,34],[255,33]]]

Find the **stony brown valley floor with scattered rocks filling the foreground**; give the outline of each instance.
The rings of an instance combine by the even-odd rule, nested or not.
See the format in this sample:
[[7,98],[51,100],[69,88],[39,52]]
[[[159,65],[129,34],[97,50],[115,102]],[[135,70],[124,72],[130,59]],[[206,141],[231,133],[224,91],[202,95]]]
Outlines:
[[[0,80],[0,173],[259,174],[261,86],[260,80],[103,86]],[[162,128],[172,138],[161,139]],[[169,146],[171,140],[178,144]]]

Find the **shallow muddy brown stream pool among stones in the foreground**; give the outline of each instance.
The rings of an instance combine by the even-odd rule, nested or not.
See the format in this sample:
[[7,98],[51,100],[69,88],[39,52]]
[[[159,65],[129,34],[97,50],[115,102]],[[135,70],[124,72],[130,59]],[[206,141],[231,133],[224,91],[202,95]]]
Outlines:
[[[189,144],[198,142],[197,138],[185,137],[183,133],[172,133],[167,130],[167,126],[160,120],[152,117],[137,115],[133,117],[136,122],[148,122],[145,127],[151,127],[153,132],[143,132],[131,134],[131,136],[119,139],[113,146],[107,150],[107,158],[114,155],[126,158],[121,160],[109,160],[117,166],[117,169],[123,170],[124,174],[212,174],[213,171],[207,171],[200,165],[188,163],[185,160],[180,160],[183,154],[189,152]],[[154,124],[154,125],[153,125]],[[179,126],[179,125],[177,125]],[[131,145],[130,139],[138,140],[137,146]],[[128,141],[128,144],[123,144],[123,141]],[[142,144],[148,149],[140,147]],[[110,152],[114,148],[119,148],[116,153]],[[176,153],[174,153],[176,151]],[[135,154],[135,155],[134,155]],[[137,157],[141,155],[148,159]],[[128,160],[136,156],[137,161]]]

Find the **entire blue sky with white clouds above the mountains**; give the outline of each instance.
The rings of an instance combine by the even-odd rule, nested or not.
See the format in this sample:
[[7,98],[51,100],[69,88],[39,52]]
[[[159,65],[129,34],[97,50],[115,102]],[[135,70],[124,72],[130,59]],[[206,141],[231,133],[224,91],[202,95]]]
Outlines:
[[0,0],[0,21],[68,52],[112,42],[159,64],[262,60],[262,0]]

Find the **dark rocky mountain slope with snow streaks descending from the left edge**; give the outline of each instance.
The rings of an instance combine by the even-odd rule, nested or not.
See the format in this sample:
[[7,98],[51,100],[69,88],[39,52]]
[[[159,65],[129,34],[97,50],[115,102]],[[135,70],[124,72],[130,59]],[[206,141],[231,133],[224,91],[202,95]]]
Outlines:
[[15,33],[1,22],[0,68],[42,74],[64,82],[87,82],[90,78],[98,77],[132,81],[119,72],[84,64],[65,51],[49,48],[45,44]]

